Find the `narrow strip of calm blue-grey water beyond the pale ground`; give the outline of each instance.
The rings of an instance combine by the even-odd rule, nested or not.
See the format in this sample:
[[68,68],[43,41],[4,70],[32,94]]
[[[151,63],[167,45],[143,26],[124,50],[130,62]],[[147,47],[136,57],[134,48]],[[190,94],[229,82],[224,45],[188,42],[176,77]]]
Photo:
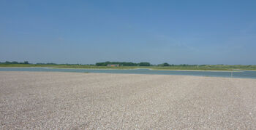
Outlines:
[[[159,75],[187,75],[187,76],[212,76],[231,77],[231,72],[210,71],[181,71],[181,70],[90,70],[90,69],[60,69],[60,68],[0,68],[0,71],[54,71],[54,72],[78,72],[78,73],[134,73],[134,74],[159,74]],[[233,72],[234,78],[256,78],[256,71],[243,70]]]

